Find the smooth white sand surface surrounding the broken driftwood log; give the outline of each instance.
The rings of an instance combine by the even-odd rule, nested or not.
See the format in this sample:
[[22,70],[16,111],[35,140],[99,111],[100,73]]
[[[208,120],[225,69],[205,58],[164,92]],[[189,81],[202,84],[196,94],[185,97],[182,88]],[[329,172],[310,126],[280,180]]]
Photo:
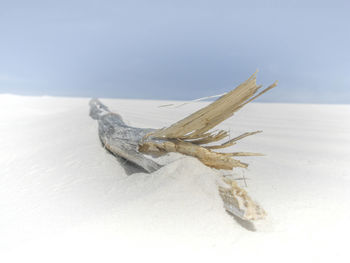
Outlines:
[[[150,128],[206,105],[101,101]],[[88,110],[88,99],[0,95],[0,262],[350,262],[350,106],[252,103],[221,125],[264,131],[229,149],[266,154],[233,171],[268,213],[254,225],[225,212],[218,172],[194,158],[128,175]]]

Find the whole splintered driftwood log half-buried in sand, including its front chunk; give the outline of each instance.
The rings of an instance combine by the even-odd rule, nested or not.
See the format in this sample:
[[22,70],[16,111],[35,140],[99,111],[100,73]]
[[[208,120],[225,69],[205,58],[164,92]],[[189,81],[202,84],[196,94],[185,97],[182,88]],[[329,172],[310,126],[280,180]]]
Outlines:
[[[158,170],[161,165],[145,157],[144,154],[158,156],[168,152],[178,152],[196,157],[203,164],[216,169],[245,168],[248,164],[233,157],[261,154],[251,152],[221,153],[213,150],[230,147],[238,140],[261,131],[246,132],[219,144],[218,142],[227,138],[229,134],[223,130],[213,132],[212,129],[276,85],[277,82],[256,94],[261,85],[256,84],[256,76],[253,74],[247,81],[215,102],[170,127],[162,129],[128,126],[120,115],[111,112],[97,99],[90,101],[90,116],[98,121],[99,137],[107,150],[149,173]],[[225,187],[220,186],[219,192],[226,210],[245,220],[256,220],[264,217],[263,209],[254,203],[246,191],[239,188],[235,181],[224,179],[223,182]]]

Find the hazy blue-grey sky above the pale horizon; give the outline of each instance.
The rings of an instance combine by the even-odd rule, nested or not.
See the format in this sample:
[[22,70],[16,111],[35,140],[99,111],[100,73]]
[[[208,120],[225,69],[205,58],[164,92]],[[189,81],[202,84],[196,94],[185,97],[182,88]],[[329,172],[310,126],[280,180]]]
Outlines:
[[350,103],[346,1],[240,2],[0,0],[0,93]]

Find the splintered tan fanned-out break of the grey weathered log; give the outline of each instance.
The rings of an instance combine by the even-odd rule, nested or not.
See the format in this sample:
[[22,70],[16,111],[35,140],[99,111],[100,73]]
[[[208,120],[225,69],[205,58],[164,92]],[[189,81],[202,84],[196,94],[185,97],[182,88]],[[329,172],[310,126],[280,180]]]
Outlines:
[[211,131],[212,128],[231,117],[244,105],[274,88],[277,82],[257,93],[261,85],[256,84],[256,73],[234,90],[215,102],[196,111],[170,127],[148,133],[139,143],[139,151],[145,154],[160,155],[179,152],[198,158],[203,164],[216,168],[232,170],[234,167],[247,167],[248,164],[232,158],[233,156],[255,156],[259,153],[233,152],[219,153],[212,150],[230,147],[238,140],[261,131],[246,132],[222,144],[217,143],[229,136],[224,130]]

